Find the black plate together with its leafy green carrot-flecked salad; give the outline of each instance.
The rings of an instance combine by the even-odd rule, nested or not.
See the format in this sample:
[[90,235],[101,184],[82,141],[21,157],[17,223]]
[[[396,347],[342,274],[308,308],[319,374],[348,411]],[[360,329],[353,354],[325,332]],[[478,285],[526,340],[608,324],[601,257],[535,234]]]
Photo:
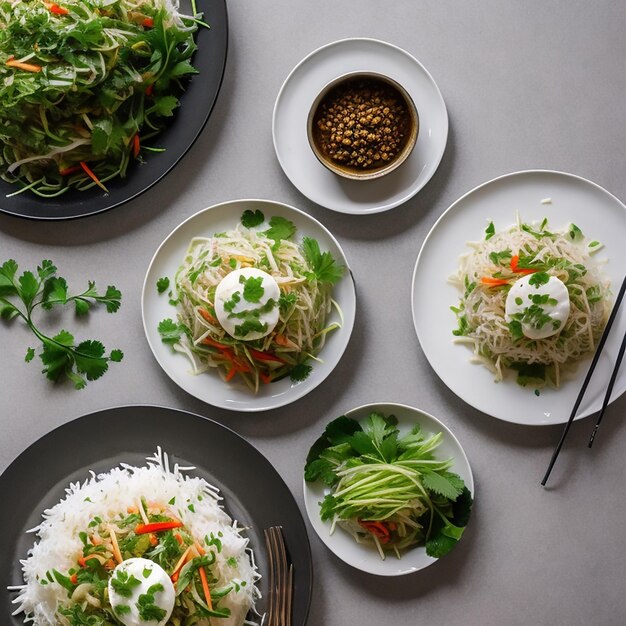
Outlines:
[[225,0],[30,4],[0,2],[0,211],[55,220],[119,206],[206,124],[226,63]]

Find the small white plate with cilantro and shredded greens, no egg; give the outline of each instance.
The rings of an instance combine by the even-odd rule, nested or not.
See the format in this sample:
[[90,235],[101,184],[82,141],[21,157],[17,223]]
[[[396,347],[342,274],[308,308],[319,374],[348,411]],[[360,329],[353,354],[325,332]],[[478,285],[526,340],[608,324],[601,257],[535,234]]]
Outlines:
[[457,438],[404,404],[367,404],[332,420],[304,468],[315,532],[340,559],[378,576],[419,571],[454,550],[473,499]]

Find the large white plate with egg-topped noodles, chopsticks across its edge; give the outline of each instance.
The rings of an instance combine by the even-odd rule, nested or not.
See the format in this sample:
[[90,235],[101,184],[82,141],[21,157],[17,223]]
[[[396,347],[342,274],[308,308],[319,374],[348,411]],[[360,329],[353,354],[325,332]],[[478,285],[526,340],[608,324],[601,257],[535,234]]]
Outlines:
[[[457,200],[418,255],[415,329],[443,382],[526,425],[567,421],[626,271],[626,207],[562,172],[501,176]],[[578,417],[598,411],[626,331],[621,311]],[[611,401],[626,390],[626,372]]]

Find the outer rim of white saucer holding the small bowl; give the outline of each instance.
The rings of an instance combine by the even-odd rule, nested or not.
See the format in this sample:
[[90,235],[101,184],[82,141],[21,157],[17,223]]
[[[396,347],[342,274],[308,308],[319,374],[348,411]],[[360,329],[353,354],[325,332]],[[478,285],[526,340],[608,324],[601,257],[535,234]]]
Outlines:
[[[435,89],[435,93],[438,96],[438,102],[441,106],[441,111],[444,114],[444,119],[445,119],[445,136],[442,140],[442,144],[441,144],[441,150],[439,151],[439,154],[437,156],[437,158],[433,161],[433,168],[432,168],[432,172],[431,174],[423,181],[423,183],[421,185],[416,185],[415,189],[410,189],[410,191],[405,194],[402,198],[399,198],[398,200],[395,200],[391,203],[387,203],[384,204],[382,206],[378,206],[376,208],[373,209],[368,209],[367,211],[358,211],[358,210],[354,210],[354,211],[348,211],[348,210],[344,210],[344,209],[339,209],[336,207],[332,207],[332,206],[326,206],[324,204],[320,204],[317,200],[310,198],[308,195],[304,194],[304,192],[302,192],[300,190],[300,187],[298,185],[296,185],[296,183],[293,181],[292,177],[289,176],[289,174],[287,173],[287,170],[285,169],[284,165],[283,165],[283,159],[281,159],[280,157],[280,151],[278,149],[278,145],[277,145],[277,140],[276,140],[276,132],[275,132],[275,128],[276,128],[276,123],[277,123],[277,110],[278,110],[278,106],[279,106],[279,102],[281,100],[281,98],[283,97],[283,93],[286,90],[286,87],[288,85],[288,83],[290,82],[292,76],[298,71],[300,70],[301,66],[304,65],[306,62],[308,62],[312,57],[316,56],[317,54],[322,53],[323,51],[325,51],[326,49],[332,48],[334,46],[340,46],[343,44],[349,44],[352,42],[368,42],[374,45],[382,45],[388,48],[391,48],[393,50],[395,50],[396,52],[399,52],[401,54],[403,54],[404,56],[408,57],[414,64],[417,65],[418,68],[420,68],[424,74],[426,75],[426,77],[428,78],[429,83],[434,87]],[[443,98],[443,94],[441,93],[441,89],[439,88],[439,85],[437,84],[437,82],[435,81],[435,79],[433,78],[432,74],[428,71],[428,69],[415,57],[413,56],[410,52],[408,52],[407,50],[405,50],[404,48],[401,48],[400,46],[384,41],[382,39],[377,39],[374,37],[344,37],[342,39],[337,39],[335,41],[331,41],[329,43],[326,43],[322,46],[319,46],[318,48],[316,48],[315,50],[312,50],[311,52],[309,52],[307,55],[305,55],[302,59],[300,59],[300,61],[298,61],[298,63],[296,63],[296,65],[291,69],[291,71],[287,74],[287,77],[285,78],[285,80],[283,81],[283,83],[280,86],[280,89],[278,90],[278,94],[276,96],[276,100],[274,101],[274,108],[272,111],[272,143],[274,144],[274,153],[276,154],[276,158],[278,159],[278,162],[280,164],[280,167],[283,171],[283,173],[285,174],[285,176],[287,176],[287,178],[289,179],[289,181],[291,182],[291,184],[306,198],[308,198],[311,202],[315,202],[315,204],[331,210],[331,211],[335,211],[337,213],[343,213],[344,215],[372,215],[375,213],[383,213],[385,211],[389,211],[391,209],[394,209],[402,204],[404,204],[405,202],[407,202],[408,200],[410,200],[411,198],[413,198],[415,195],[417,195],[432,179],[432,177],[435,175],[436,171],[439,169],[439,165],[441,164],[441,161],[443,159],[443,155],[445,154],[446,151],[446,147],[448,145],[448,136],[450,133],[450,118],[448,115],[448,108],[446,106],[446,102]],[[419,178],[419,176],[416,178],[416,180]]]

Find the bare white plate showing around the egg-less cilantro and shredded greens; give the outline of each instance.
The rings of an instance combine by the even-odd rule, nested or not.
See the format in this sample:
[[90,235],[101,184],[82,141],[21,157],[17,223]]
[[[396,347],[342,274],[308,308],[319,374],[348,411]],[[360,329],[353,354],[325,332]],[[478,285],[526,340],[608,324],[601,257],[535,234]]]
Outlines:
[[[393,402],[365,404],[348,411],[345,415],[362,421],[372,411],[395,415],[398,418],[398,429],[402,434],[407,433],[415,424],[419,424],[426,435],[443,433],[443,439],[435,454],[439,459],[454,459],[454,465],[450,471],[463,479],[465,486],[474,497],[474,477],[469,461],[458,439],[447,426],[424,411]],[[321,481],[314,483],[304,481],[304,504],[311,525],[322,542],[348,565],[377,576],[401,576],[424,569],[437,560],[428,556],[425,548],[417,547],[405,552],[400,559],[394,555],[388,555],[383,561],[373,547],[356,543],[352,535],[341,528],[337,527],[331,535],[330,522],[322,521],[319,505],[328,493],[330,489]]]

